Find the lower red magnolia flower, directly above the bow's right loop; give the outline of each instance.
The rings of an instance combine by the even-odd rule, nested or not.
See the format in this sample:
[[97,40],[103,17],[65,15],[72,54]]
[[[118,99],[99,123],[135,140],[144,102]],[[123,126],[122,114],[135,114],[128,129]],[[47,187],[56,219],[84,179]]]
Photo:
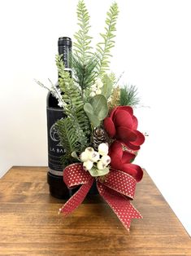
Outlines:
[[123,145],[115,140],[110,146],[109,156],[111,157],[111,167],[116,170],[122,170],[125,173],[132,175],[137,182],[141,181],[143,171],[140,166],[131,164],[130,162],[136,157],[128,151],[123,150]]

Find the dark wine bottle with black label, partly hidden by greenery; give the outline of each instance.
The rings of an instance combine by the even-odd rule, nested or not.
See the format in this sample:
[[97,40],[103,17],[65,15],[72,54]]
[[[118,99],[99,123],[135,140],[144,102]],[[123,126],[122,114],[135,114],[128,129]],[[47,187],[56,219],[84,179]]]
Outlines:
[[[59,38],[59,55],[63,55],[63,63],[65,70],[70,73],[72,77],[72,68],[70,68],[69,55],[72,51],[71,38]],[[64,109],[59,107],[58,99],[50,92],[46,100],[47,113],[47,135],[48,135],[48,173],[47,182],[49,183],[50,194],[54,197],[67,199],[71,196],[71,192],[67,189],[63,182],[63,163],[61,157],[65,150],[59,142],[59,134],[55,129],[55,122],[62,117],[66,117]]]

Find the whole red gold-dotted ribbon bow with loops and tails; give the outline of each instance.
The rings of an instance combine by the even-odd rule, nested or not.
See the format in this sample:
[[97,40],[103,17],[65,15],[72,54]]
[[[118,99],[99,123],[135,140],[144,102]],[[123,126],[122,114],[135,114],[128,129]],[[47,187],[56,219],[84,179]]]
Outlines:
[[[65,216],[71,214],[92,187],[94,178],[83,169],[81,163],[67,166],[63,171],[63,180],[67,188],[81,185],[79,190],[60,209]],[[132,206],[137,181],[131,175],[121,170],[111,169],[105,181],[96,179],[99,194],[111,206],[124,227],[129,229],[132,218],[142,218],[141,214]]]

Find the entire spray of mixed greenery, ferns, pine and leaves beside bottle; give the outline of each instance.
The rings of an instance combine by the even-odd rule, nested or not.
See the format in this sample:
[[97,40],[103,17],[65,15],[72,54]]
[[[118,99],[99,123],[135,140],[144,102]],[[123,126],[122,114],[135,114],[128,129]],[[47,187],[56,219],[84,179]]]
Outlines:
[[[58,99],[66,117],[56,122],[60,143],[65,148],[62,157],[67,166],[78,160],[81,152],[91,145],[91,133],[96,127],[102,127],[102,121],[111,108],[119,105],[136,106],[139,103],[137,88],[124,86],[120,89],[115,74],[108,74],[111,49],[115,46],[116,20],[119,14],[117,3],[114,2],[106,13],[105,32],[100,33],[102,42],[98,42],[93,51],[89,35],[89,12],[84,0],[77,5],[79,30],[74,34],[76,42],[70,55],[72,77],[65,70],[63,55],[56,55],[56,65],[59,72],[58,85],[50,82],[50,89],[41,82],[37,83]],[[94,95],[93,95],[94,94]],[[98,176],[98,169],[90,170],[92,176]],[[105,175],[109,168],[102,170]]]

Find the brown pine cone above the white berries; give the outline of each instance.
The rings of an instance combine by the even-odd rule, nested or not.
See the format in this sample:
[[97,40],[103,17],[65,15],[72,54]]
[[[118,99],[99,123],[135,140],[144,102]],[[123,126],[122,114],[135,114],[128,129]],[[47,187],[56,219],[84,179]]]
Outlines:
[[108,136],[106,134],[106,130],[98,127],[93,130],[92,135],[92,145],[94,150],[98,151],[98,145],[101,143],[108,143]]

